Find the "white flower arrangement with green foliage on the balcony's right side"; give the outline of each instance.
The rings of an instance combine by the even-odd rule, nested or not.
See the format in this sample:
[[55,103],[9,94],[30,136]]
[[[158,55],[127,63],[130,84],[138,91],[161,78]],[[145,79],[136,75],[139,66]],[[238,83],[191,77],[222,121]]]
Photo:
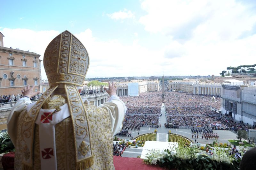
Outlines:
[[[219,146],[219,145],[218,145]],[[229,156],[228,150],[224,147],[214,145],[213,155],[209,156],[200,152],[195,145],[186,147],[183,141],[178,146],[171,147],[170,150],[152,150],[146,155],[146,164],[159,164],[168,169],[239,169],[239,159]]]

